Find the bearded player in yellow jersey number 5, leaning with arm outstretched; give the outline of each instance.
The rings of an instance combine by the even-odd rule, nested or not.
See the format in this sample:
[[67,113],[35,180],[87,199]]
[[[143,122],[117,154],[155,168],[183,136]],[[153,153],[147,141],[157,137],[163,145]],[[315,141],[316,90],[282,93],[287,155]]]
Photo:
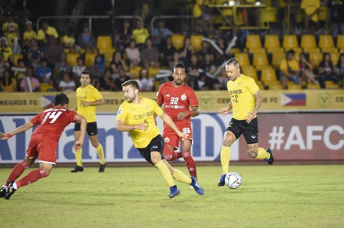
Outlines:
[[196,177],[188,177],[180,170],[173,169],[162,156],[164,140],[155,124],[154,115],[159,116],[183,140],[187,138],[187,134],[178,130],[171,117],[165,114],[155,101],[139,96],[139,84],[136,80],[122,83],[122,90],[126,101],[118,108],[117,130],[129,131],[134,146],[143,158],[158,168],[170,186],[170,198],[180,194],[173,179],[190,184],[199,195],[203,195],[204,191]]

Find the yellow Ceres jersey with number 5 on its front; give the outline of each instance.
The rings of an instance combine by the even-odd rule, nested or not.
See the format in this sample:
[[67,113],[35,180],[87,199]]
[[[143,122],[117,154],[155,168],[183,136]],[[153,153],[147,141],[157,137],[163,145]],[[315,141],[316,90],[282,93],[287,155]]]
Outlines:
[[145,148],[150,141],[160,134],[159,128],[155,125],[154,114],[160,116],[163,110],[156,101],[143,98],[142,102],[135,104],[124,101],[118,108],[116,120],[123,120],[127,125],[138,125],[144,122],[147,130],[130,130],[130,136],[133,139],[136,148]]

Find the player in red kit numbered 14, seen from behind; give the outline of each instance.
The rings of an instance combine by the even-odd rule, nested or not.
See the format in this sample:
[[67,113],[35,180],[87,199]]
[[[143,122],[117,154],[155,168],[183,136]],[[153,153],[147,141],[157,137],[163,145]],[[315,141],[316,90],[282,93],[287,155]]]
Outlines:
[[[0,189],[0,197],[8,200],[20,187],[37,181],[40,178],[48,177],[53,166],[56,164],[56,149],[62,131],[70,123],[81,124],[81,134],[79,140],[74,144],[74,151],[78,151],[83,146],[86,126],[86,119],[72,110],[68,110],[68,97],[59,93],[55,97],[54,107],[47,109],[10,133],[0,132],[0,139],[7,140],[15,134],[37,127],[30,139],[29,148],[25,159],[18,163],[7,178],[6,183]],[[39,157],[39,169],[30,172],[27,176],[15,182],[29,168],[36,158]]]

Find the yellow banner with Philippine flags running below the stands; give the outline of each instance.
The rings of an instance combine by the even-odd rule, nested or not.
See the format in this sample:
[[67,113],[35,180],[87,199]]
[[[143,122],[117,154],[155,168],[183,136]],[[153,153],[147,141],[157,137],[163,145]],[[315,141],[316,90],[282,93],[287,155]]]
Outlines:
[[[0,114],[38,113],[52,107],[56,93],[1,93]],[[105,105],[97,107],[98,113],[116,113],[122,103],[122,92],[101,92]],[[343,110],[343,90],[262,91],[260,110]],[[76,94],[67,93],[70,107],[76,105]],[[142,93],[146,98],[156,99],[156,93]],[[227,91],[196,91],[201,112],[216,112],[229,103]]]

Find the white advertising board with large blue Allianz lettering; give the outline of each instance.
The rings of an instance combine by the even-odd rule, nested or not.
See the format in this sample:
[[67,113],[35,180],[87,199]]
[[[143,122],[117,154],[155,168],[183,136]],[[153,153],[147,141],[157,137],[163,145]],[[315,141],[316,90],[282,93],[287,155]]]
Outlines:
[[[0,116],[0,131],[9,132],[29,121],[32,116]],[[201,114],[192,118],[193,126],[193,157],[196,161],[213,161],[220,159],[223,133],[231,115],[226,118],[218,114]],[[163,123],[157,118],[161,132]],[[128,132],[116,130],[116,115],[97,115],[99,142],[103,145],[108,162],[144,161],[137,149],[134,148]],[[74,144],[74,124],[66,127],[62,133],[57,149],[57,164],[59,162],[75,163],[72,152]],[[15,135],[7,141],[0,140],[0,163],[17,163],[25,157],[32,129]],[[180,151],[180,150],[179,150]],[[232,146],[231,160],[238,160],[238,143]],[[83,162],[98,162],[95,149],[88,138],[83,146]]]

